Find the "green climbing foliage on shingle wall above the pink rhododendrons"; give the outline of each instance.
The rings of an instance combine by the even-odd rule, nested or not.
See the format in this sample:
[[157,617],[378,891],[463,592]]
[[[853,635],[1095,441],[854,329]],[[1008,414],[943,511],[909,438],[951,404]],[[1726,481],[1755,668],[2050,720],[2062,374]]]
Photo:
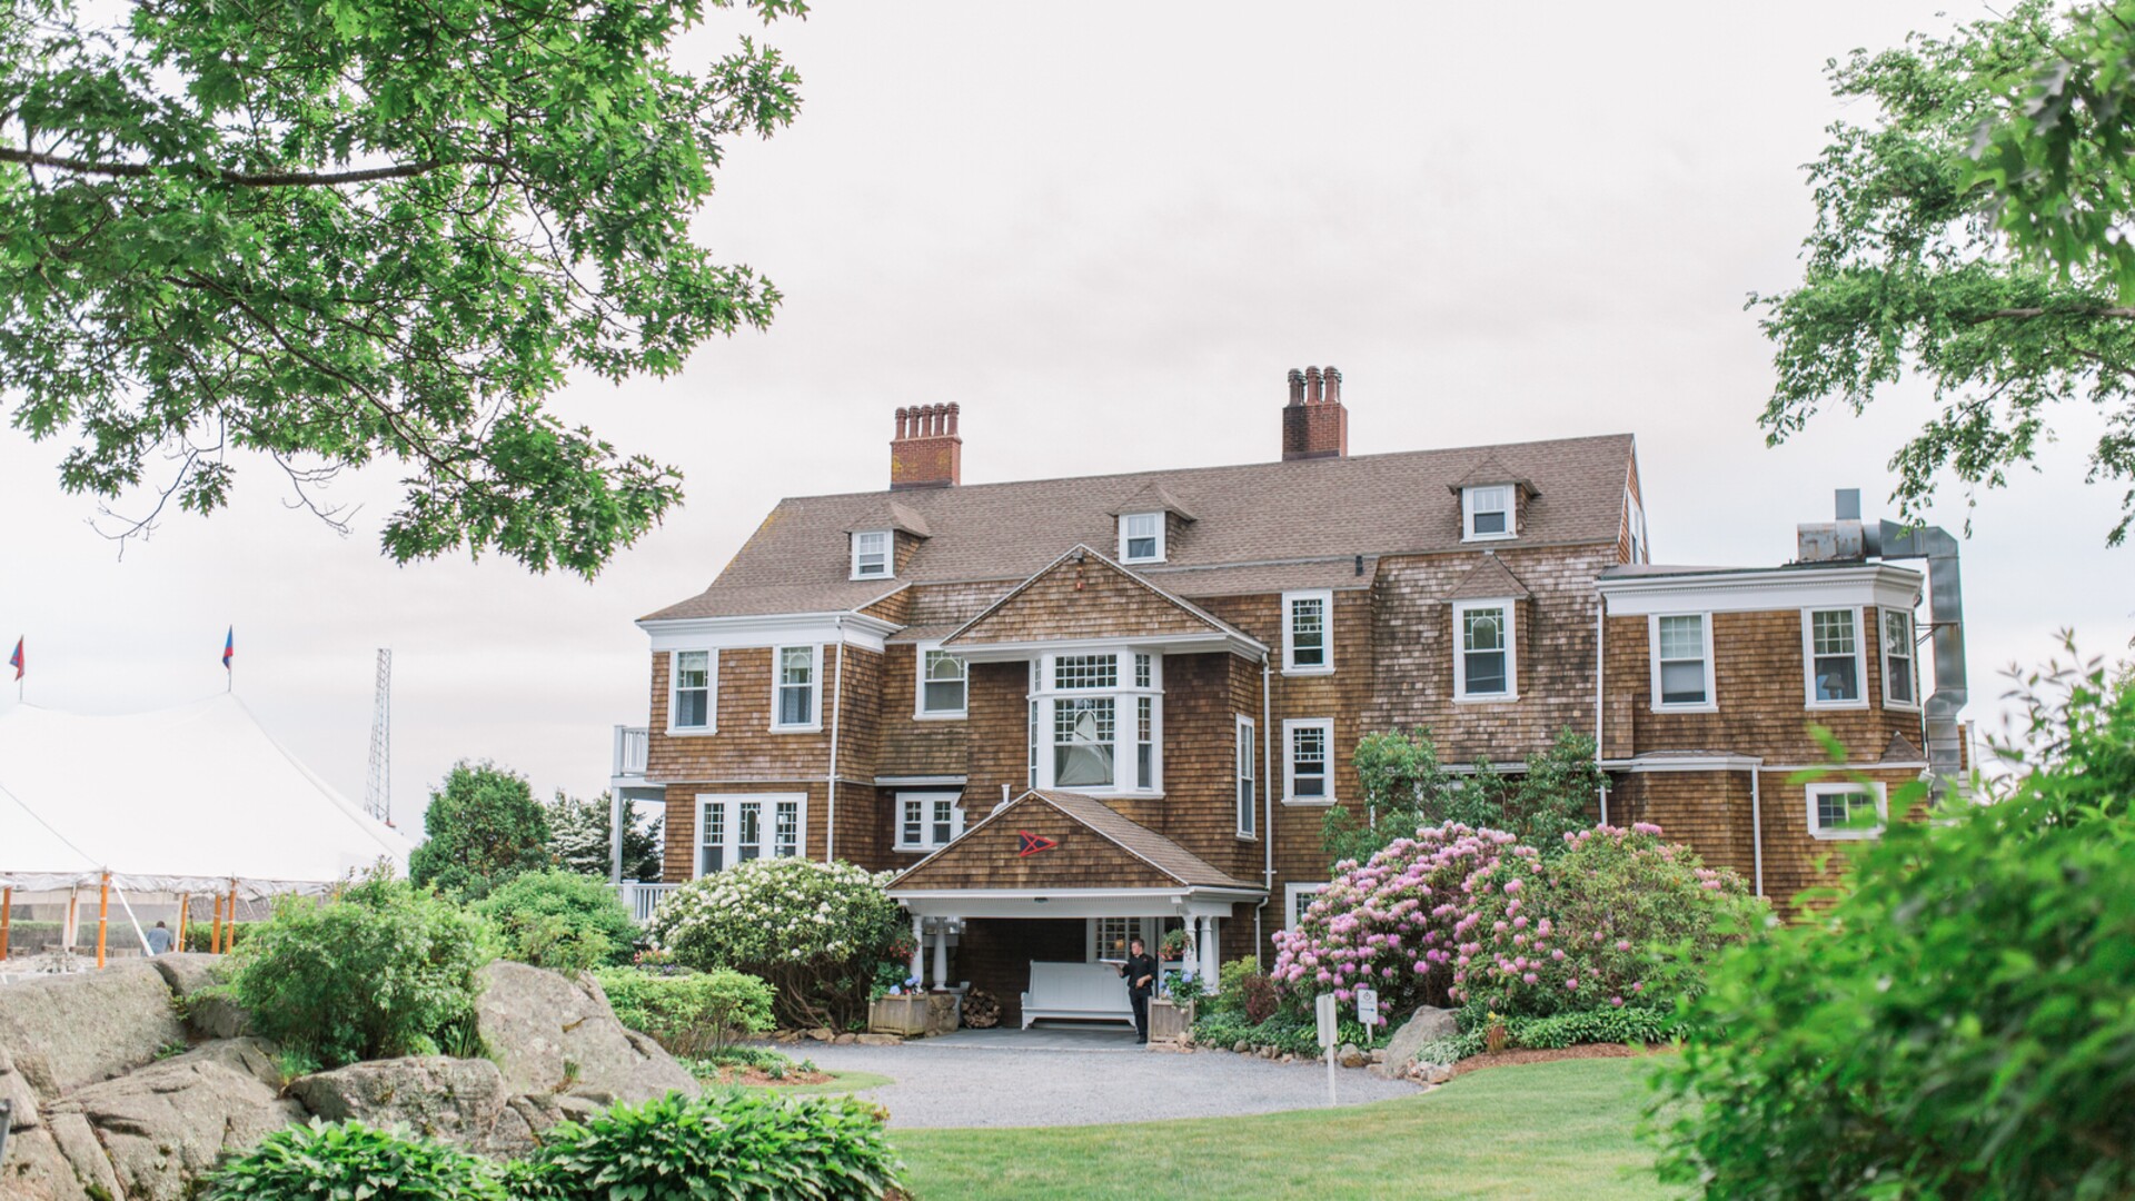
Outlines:
[[1527,759],[1527,771],[1505,778],[1490,763],[1460,776],[1439,763],[1430,731],[1369,733],[1356,744],[1356,774],[1364,791],[1364,821],[1345,806],[1328,810],[1319,827],[1328,859],[1369,861],[1396,838],[1456,823],[1501,829],[1544,857],[1565,851],[1565,836],[1586,829],[1586,804],[1606,778],[1595,765],[1595,739],[1563,729]]

